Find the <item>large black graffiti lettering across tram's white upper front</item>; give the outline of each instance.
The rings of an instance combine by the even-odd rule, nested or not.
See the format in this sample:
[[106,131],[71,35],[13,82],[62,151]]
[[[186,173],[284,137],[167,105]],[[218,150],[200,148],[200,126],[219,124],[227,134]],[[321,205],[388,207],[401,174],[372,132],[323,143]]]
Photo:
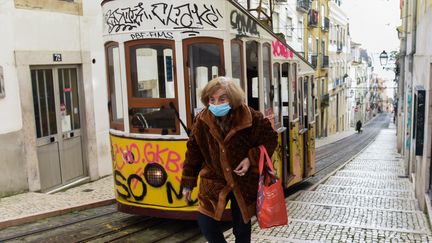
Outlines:
[[[130,31],[144,25],[148,28],[162,26],[173,29],[184,29],[185,33],[197,33],[204,27],[217,28],[223,16],[211,4],[168,4],[140,2],[134,7],[110,9],[105,13],[108,32]],[[154,36],[159,38],[158,35]],[[164,35],[160,37],[164,38]]]

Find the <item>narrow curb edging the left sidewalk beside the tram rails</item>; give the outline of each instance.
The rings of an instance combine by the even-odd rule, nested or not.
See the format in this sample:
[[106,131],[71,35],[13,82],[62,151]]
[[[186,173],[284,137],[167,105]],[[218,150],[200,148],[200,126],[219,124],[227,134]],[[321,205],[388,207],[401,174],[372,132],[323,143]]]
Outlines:
[[96,202],[92,202],[92,203],[88,203],[88,204],[73,206],[70,208],[61,208],[61,209],[56,209],[53,211],[36,213],[33,215],[24,216],[22,218],[8,219],[8,220],[0,222],[0,229],[4,229],[7,227],[11,227],[11,226],[17,226],[17,225],[21,225],[21,224],[25,224],[25,223],[30,223],[30,222],[34,222],[34,221],[49,218],[49,217],[59,216],[59,215],[73,212],[73,211],[82,211],[85,209],[91,209],[91,208],[106,206],[106,205],[110,205],[110,204],[114,204],[114,203],[115,203],[114,198],[104,199],[101,201],[96,201]]

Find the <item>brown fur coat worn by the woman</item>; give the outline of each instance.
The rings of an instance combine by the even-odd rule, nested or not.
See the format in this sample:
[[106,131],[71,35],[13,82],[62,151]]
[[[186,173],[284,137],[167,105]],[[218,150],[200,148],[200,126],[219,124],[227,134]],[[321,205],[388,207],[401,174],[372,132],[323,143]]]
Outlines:
[[[200,176],[199,211],[220,220],[233,192],[245,223],[255,215],[258,190],[259,145],[271,156],[277,133],[260,112],[243,105],[231,111],[223,125],[230,129],[225,137],[215,117],[204,109],[195,119],[187,143],[181,184],[194,188]],[[244,176],[233,170],[248,157],[251,163]]]

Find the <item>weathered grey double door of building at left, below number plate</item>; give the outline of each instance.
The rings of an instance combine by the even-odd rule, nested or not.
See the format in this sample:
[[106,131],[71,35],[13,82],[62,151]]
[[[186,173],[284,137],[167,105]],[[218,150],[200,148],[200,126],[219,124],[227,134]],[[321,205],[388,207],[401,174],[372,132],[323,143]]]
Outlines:
[[41,190],[84,176],[77,67],[31,70]]

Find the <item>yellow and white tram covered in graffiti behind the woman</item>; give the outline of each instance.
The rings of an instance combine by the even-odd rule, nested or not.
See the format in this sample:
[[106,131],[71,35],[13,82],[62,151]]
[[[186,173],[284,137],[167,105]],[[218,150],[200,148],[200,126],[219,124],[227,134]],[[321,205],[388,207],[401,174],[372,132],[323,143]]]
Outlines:
[[200,90],[216,76],[233,77],[272,122],[286,188],[315,173],[314,70],[237,2],[104,0],[102,9],[120,211],[194,217],[182,163]]

